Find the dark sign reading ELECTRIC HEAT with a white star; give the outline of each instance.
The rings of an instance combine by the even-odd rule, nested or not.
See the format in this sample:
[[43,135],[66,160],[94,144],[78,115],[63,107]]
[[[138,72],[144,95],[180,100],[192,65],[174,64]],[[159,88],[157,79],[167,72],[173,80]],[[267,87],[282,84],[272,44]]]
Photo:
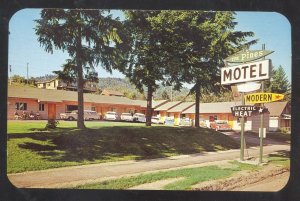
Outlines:
[[231,113],[235,117],[251,117],[268,112],[266,107],[256,107],[253,105],[239,105],[231,107]]

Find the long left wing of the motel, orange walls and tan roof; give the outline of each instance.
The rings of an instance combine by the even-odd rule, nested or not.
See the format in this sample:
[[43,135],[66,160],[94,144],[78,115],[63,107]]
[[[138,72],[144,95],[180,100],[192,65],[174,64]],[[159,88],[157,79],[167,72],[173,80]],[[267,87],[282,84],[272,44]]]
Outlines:
[[[40,119],[56,118],[59,114],[78,109],[77,92],[53,89],[39,89],[24,86],[8,86],[8,119],[14,119],[14,113],[39,113]],[[126,97],[105,96],[84,93],[84,109],[104,115],[107,111],[140,112],[141,106]]]

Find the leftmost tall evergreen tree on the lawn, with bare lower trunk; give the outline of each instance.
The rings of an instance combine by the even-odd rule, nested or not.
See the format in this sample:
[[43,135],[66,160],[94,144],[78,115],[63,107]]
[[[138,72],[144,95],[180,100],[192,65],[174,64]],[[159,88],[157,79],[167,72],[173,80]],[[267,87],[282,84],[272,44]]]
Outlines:
[[[69,67],[77,79],[78,119],[77,127],[83,129],[84,70],[100,64],[111,72],[122,57],[118,49],[122,44],[121,23],[103,10],[43,9],[41,19],[35,20],[35,32],[45,51],[54,49],[68,52]],[[66,72],[66,71],[65,71]]]

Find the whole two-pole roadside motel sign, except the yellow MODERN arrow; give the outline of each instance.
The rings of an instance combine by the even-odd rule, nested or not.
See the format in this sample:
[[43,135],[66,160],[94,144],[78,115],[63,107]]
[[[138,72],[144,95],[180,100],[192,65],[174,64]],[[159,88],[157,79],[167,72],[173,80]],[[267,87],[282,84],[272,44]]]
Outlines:
[[[221,68],[221,84],[229,85],[236,83],[247,83],[253,81],[261,81],[262,92],[264,92],[264,80],[270,79],[271,74],[271,60],[261,60],[265,59],[265,56],[273,53],[273,51],[265,50],[265,45],[263,44],[262,50],[243,50],[233,54],[225,59],[228,63],[237,63],[238,65]],[[251,62],[251,63],[249,63]],[[252,91],[259,88],[259,84],[252,84]],[[239,86],[242,94],[242,105],[236,108],[231,108],[232,112],[235,115],[241,116],[241,151],[240,151],[240,160],[244,160],[244,145],[245,145],[245,116],[252,113],[252,109],[249,111],[243,111],[245,109],[245,92],[250,92],[251,90],[246,89],[246,86]],[[248,91],[249,90],[249,91]],[[259,96],[260,97],[260,96]],[[268,97],[268,96],[267,96]],[[262,97],[264,99],[265,96]],[[247,99],[248,100],[248,99]],[[246,100],[246,102],[247,102]],[[251,100],[251,97],[250,99]],[[248,101],[249,102],[249,101]],[[270,101],[271,102],[271,101]],[[263,104],[261,104],[263,106]],[[263,107],[261,107],[261,111]],[[261,114],[261,132],[263,130],[263,114]],[[263,135],[262,135],[263,136]],[[260,138],[260,163],[262,161],[262,138]]]

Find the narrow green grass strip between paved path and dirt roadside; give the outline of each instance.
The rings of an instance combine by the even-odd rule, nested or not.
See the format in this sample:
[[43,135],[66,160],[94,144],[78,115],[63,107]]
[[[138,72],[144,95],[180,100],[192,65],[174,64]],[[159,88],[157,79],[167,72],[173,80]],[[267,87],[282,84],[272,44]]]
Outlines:
[[96,184],[79,186],[80,189],[128,189],[145,183],[152,183],[158,180],[182,178],[164,187],[165,190],[189,190],[197,183],[223,179],[232,176],[242,170],[258,170],[259,166],[242,164],[236,161],[231,166],[221,168],[218,166],[206,166],[197,168],[185,168],[171,171],[160,171],[157,173],[141,174],[138,176],[123,177],[121,179],[103,181]]

